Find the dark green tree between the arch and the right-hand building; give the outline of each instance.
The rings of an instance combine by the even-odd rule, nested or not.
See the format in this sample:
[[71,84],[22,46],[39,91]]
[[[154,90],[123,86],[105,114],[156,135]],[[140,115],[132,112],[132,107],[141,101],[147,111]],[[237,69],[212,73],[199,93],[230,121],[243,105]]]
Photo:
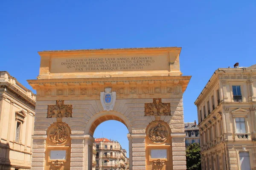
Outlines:
[[186,148],[187,170],[201,170],[200,144],[193,143]]

